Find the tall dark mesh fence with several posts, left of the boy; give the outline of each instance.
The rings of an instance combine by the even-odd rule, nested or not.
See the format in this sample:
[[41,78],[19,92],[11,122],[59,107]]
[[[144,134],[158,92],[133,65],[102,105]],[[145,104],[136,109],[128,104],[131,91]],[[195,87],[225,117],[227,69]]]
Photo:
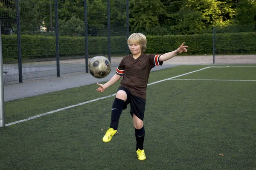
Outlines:
[[128,0],[2,0],[0,5],[4,83],[88,72],[89,57],[127,54],[127,48],[112,50],[110,37],[125,37],[119,43],[126,44]]

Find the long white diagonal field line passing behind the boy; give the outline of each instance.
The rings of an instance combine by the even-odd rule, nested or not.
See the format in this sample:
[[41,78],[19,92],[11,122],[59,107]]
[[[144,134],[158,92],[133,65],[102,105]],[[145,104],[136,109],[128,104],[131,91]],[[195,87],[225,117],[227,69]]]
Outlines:
[[[150,83],[148,85],[154,85],[156,83],[163,82],[163,81],[166,81],[166,80],[169,80],[169,79],[175,79],[176,77],[181,77],[181,76],[184,76],[184,75],[187,75],[187,74],[195,73],[197,71],[201,71],[201,70],[204,70],[204,69],[207,69],[207,68],[210,68],[210,67],[202,68],[202,69],[199,69],[199,70],[196,70],[196,71],[191,71],[191,72],[186,73],[186,74],[181,74],[179,76],[171,77],[171,78],[168,78],[168,79],[163,79],[163,80],[160,80],[160,81],[157,81],[157,82],[152,82],[152,83]],[[36,115],[36,116],[29,117],[27,119],[22,119],[22,120],[19,120],[19,121],[16,121],[16,122],[8,123],[8,124],[6,124],[6,126],[14,125],[14,124],[17,124],[17,123],[20,123],[20,122],[26,122],[28,120],[35,119],[35,118],[38,118],[38,117],[41,117],[41,116],[45,116],[47,114],[51,114],[51,113],[55,113],[55,112],[58,112],[58,111],[67,110],[67,109],[70,109],[70,108],[74,108],[76,106],[84,105],[84,104],[87,104],[87,103],[90,103],[90,102],[95,102],[95,101],[98,101],[98,100],[101,100],[101,99],[106,99],[108,97],[112,97],[112,96],[115,96],[115,95],[116,94],[111,94],[109,96],[100,97],[98,99],[93,99],[93,100],[90,100],[90,101],[87,101],[87,102],[82,102],[82,103],[79,103],[79,104],[76,104],[76,105],[71,105],[71,106],[68,106],[68,107],[65,107],[65,108],[60,108],[60,109],[57,109],[55,111],[49,111],[49,112],[46,112],[46,113],[42,113],[42,114],[39,114],[39,115]]]

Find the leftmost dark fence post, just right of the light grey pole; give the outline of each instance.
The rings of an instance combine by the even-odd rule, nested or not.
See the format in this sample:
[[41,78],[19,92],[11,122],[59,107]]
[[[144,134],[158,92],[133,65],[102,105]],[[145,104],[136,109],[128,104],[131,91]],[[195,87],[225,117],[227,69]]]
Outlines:
[[17,39],[18,39],[18,67],[19,67],[19,82],[22,81],[22,60],[21,60],[21,37],[20,37],[20,8],[19,0],[16,0],[16,20],[17,20]]

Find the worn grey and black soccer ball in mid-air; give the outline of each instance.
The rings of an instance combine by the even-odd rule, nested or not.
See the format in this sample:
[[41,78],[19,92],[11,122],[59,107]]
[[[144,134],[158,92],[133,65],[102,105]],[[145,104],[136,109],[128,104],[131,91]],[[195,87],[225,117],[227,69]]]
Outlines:
[[90,60],[89,71],[93,77],[104,78],[107,77],[111,71],[111,63],[104,56],[96,56]]

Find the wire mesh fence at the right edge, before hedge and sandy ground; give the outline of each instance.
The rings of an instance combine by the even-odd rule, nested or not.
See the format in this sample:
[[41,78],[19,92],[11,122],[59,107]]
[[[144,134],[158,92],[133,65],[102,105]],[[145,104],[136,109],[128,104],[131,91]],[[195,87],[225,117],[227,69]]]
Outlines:
[[213,63],[256,63],[256,25],[213,28]]

